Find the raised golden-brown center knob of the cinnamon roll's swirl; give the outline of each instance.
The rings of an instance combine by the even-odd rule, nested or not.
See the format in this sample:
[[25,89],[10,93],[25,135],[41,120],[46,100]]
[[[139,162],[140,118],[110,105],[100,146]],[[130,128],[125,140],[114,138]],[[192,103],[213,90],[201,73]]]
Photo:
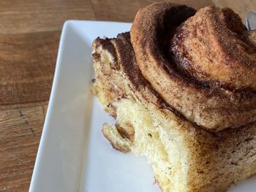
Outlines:
[[[253,33],[253,32],[252,32]],[[176,30],[171,49],[176,63],[211,86],[256,91],[256,42],[229,8],[205,7]]]

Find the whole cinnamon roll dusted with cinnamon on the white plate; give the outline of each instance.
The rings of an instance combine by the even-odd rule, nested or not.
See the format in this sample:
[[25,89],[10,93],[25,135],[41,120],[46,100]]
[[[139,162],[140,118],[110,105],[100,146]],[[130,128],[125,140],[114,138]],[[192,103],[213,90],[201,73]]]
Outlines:
[[145,155],[162,191],[226,191],[256,173],[256,32],[231,9],[155,3],[92,45],[102,132]]

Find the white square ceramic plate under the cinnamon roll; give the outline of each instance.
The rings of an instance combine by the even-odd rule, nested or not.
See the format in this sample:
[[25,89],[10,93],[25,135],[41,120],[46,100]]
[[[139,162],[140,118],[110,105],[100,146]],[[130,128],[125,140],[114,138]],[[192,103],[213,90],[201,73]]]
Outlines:
[[[116,37],[130,23],[69,20],[64,24],[53,88],[29,191],[159,191],[145,158],[123,154],[102,136],[113,121],[90,93],[91,42]],[[230,192],[255,191],[256,177]]]

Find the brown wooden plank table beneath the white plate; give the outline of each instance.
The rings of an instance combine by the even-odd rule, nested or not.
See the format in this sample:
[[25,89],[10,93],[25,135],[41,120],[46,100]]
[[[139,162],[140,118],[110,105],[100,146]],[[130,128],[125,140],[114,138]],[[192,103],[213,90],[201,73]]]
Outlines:
[[[0,191],[28,191],[65,20],[132,22],[149,0],[0,1]],[[256,0],[180,0],[231,7],[245,18]]]

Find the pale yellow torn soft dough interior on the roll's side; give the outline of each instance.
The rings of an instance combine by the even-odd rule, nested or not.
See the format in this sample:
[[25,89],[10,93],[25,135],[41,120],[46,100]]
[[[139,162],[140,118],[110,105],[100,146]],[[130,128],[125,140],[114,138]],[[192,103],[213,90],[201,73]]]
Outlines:
[[[162,191],[185,191],[187,184],[187,149],[178,133],[176,122],[162,125],[152,118],[145,107],[133,99],[116,103],[117,123],[125,128],[129,123],[135,129],[130,146],[135,155],[145,155],[154,169],[154,177]],[[166,130],[168,129],[168,130]],[[176,185],[173,185],[176,183]]]

